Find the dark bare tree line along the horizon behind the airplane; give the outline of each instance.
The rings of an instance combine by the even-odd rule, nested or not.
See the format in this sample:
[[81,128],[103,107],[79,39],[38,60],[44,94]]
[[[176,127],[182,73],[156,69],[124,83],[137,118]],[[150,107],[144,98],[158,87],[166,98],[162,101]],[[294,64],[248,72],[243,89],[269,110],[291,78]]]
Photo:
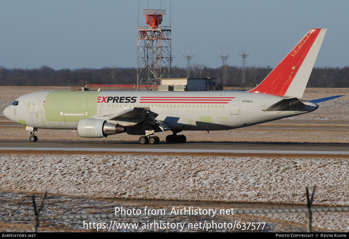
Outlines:
[[[272,70],[270,66],[246,67],[246,83],[260,83]],[[187,69],[177,66],[171,68],[171,77],[186,77]],[[241,83],[242,68],[227,66],[227,84]],[[204,64],[191,65],[191,77],[216,77],[217,83],[223,81],[223,67],[210,68]],[[0,85],[2,86],[66,86],[69,84],[136,84],[137,69],[117,66],[101,69],[60,69],[49,66],[40,68],[8,69],[0,66]],[[313,68],[307,87],[345,88],[349,87],[349,67]]]

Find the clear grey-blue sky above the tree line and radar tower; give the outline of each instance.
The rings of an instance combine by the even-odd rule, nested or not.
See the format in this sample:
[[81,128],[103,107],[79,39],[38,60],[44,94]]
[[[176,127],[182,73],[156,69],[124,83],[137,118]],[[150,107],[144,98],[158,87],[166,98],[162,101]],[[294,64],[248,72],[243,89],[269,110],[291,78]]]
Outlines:
[[[137,66],[137,25],[142,9],[166,9],[170,1],[149,0],[1,0],[0,65],[54,69]],[[311,28],[327,28],[315,67],[349,63],[349,1],[172,0],[172,66],[191,63],[220,67],[218,50],[228,47],[227,64],[275,67]]]

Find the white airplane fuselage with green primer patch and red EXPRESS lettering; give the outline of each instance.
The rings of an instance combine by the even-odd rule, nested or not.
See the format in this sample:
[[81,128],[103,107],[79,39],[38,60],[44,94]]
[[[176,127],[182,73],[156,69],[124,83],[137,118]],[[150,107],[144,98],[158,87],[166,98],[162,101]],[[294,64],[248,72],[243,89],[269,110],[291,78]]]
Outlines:
[[227,130],[308,113],[317,105],[287,111],[263,111],[284,97],[236,91],[42,91],[16,99],[4,110],[7,118],[25,126],[76,129],[85,118],[149,107],[172,131]]

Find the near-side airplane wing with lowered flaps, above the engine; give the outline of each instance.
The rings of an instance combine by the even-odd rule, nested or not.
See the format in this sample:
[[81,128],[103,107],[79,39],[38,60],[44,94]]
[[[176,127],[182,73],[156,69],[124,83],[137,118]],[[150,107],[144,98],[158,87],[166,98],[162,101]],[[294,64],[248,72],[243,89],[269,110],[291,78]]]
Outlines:
[[134,107],[117,114],[99,114],[94,115],[91,118],[104,119],[109,122],[114,121],[122,126],[147,125],[147,130],[150,130],[151,128],[152,130],[155,129],[155,132],[171,130],[171,128],[164,122],[157,120],[157,116],[158,114],[152,112],[149,107]]

